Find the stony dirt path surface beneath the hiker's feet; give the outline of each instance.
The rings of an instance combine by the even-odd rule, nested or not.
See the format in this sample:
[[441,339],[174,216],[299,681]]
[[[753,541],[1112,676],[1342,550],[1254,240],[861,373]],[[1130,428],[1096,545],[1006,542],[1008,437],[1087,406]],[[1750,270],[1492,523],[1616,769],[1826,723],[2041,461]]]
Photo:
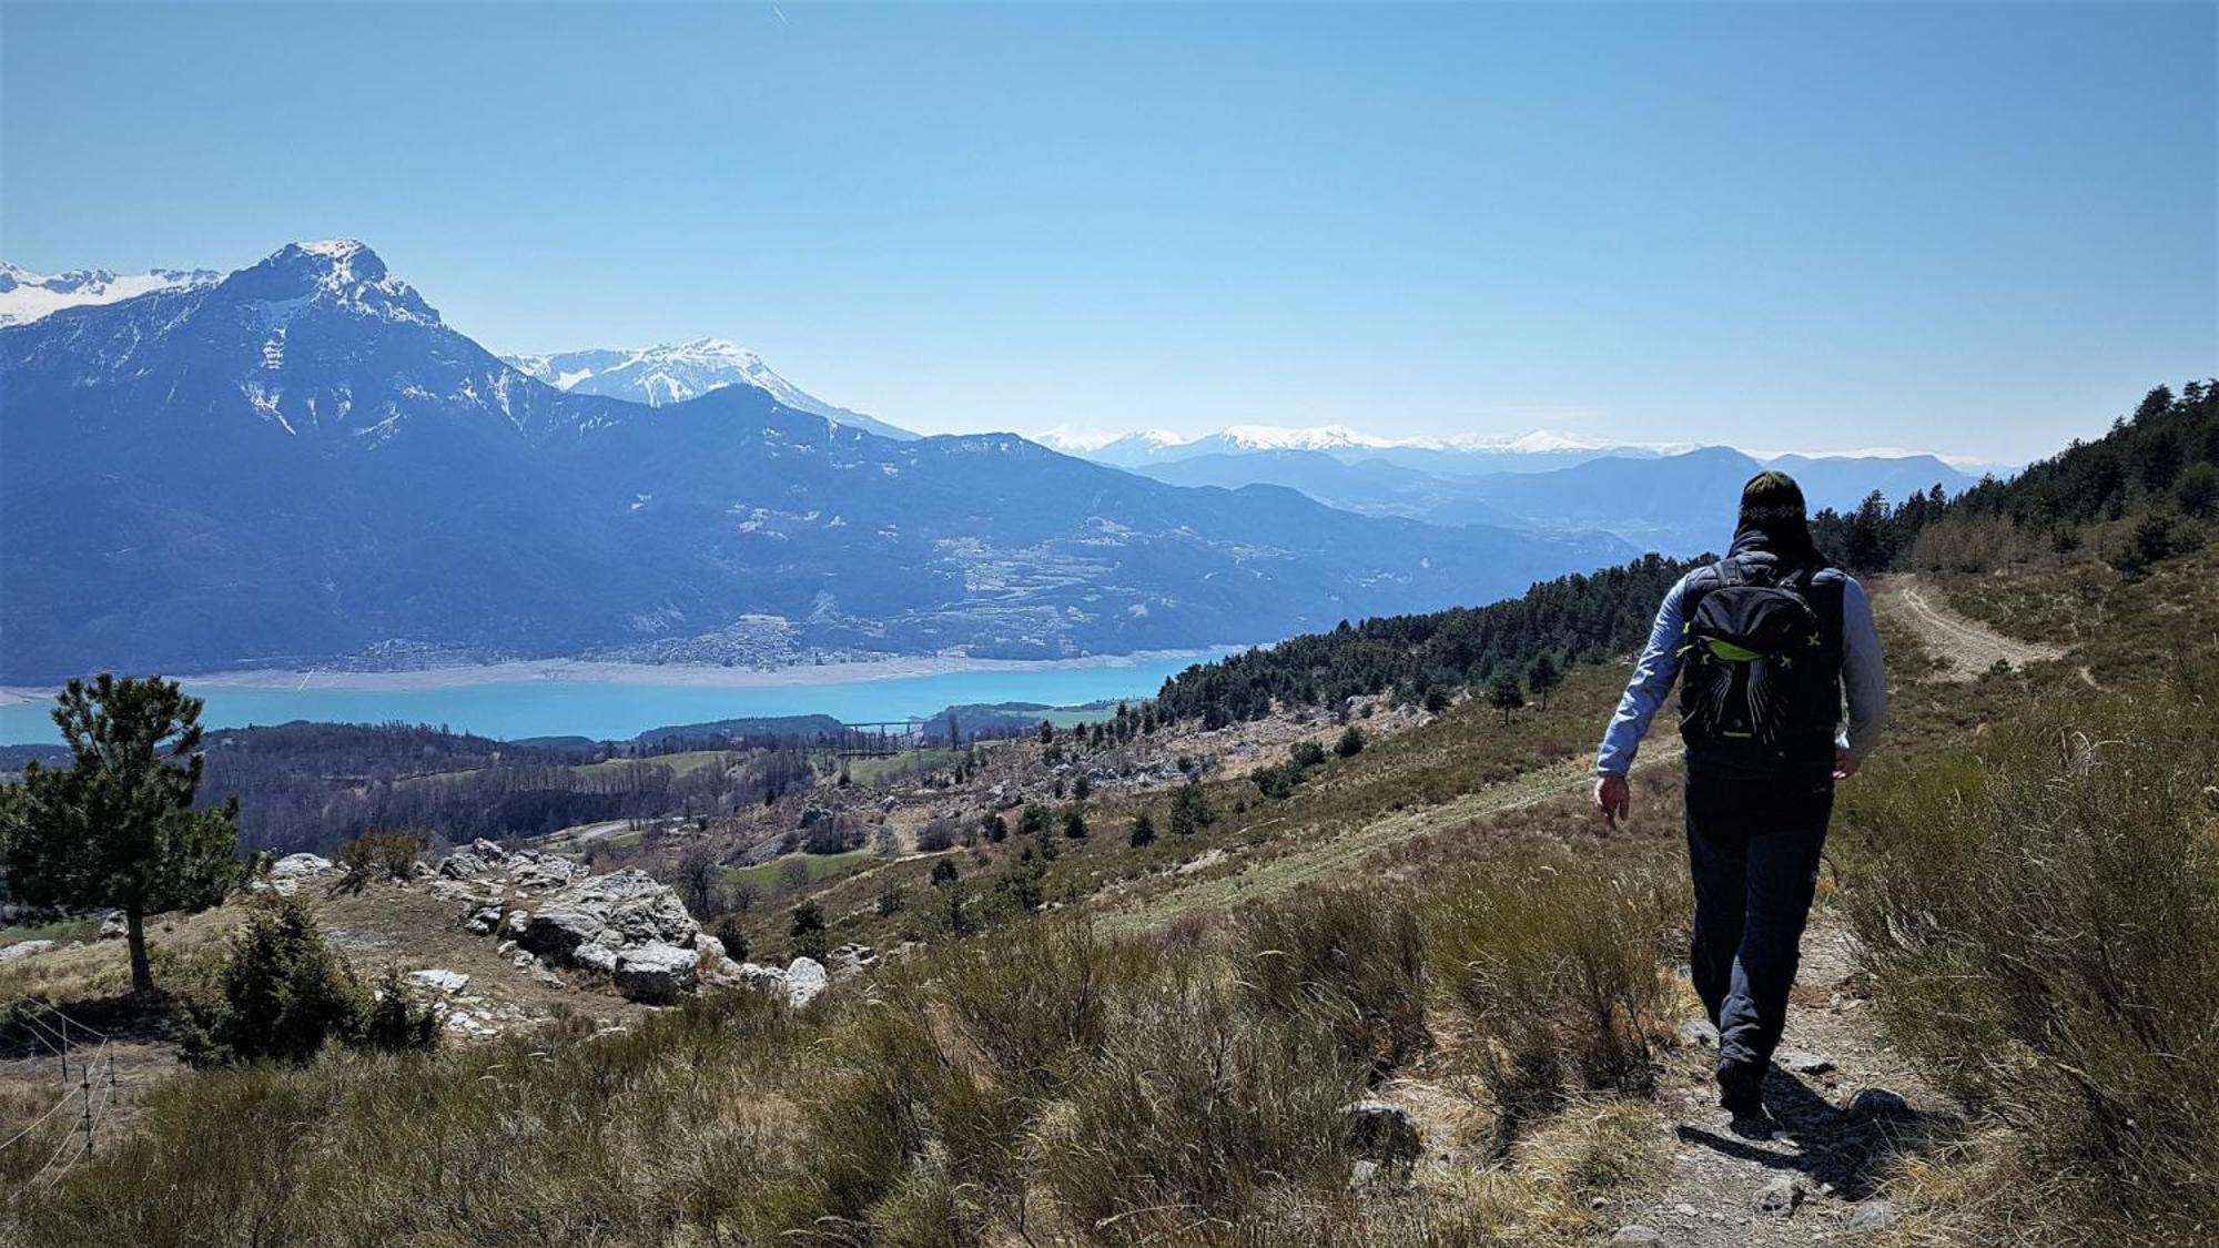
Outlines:
[[[1609,1244],[1729,1248],[1744,1244],[1879,1244],[1902,1210],[1879,1184],[1891,1159],[1917,1153],[1942,1110],[1877,1039],[1848,966],[1848,937],[1813,915],[1795,977],[1789,1030],[1764,1081],[1769,1124],[1733,1124],[1711,1075],[1718,1037],[1682,1028],[1658,1088],[1671,1172],[1642,1199],[1604,1208]],[[1691,993],[1693,997],[1693,993]]]

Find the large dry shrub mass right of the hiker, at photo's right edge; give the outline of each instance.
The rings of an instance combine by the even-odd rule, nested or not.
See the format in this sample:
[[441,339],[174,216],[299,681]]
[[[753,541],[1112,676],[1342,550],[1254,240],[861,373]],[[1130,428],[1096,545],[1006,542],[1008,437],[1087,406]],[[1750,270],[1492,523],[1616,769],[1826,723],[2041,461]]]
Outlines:
[[2219,1219],[2210,677],[2037,700],[1982,757],[1884,771],[1844,808],[1891,1037],[2022,1128],[2048,1206],[2108,1210],[2097,1239],[2186,1244]]

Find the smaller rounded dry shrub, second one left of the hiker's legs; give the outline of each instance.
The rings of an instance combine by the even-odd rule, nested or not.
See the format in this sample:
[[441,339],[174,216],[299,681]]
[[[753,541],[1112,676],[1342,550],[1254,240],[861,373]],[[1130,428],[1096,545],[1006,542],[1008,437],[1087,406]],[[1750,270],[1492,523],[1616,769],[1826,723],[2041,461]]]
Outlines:
[[1360,890],[1314,893],[1245,915],[1234,977],[1252,1006],[1323,1024],[1376,1075],[1425,1044],[1418,917]]

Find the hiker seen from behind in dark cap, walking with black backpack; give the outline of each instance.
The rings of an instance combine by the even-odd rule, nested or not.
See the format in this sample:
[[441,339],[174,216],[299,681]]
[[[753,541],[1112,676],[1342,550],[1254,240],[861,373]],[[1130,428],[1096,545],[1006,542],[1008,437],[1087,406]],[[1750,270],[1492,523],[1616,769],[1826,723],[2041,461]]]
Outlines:
[[1718,1026],[1720,1106],[1762,1117],[1833,784],[1857,775],[1888,708],[1864,588],[1826,566],[1786,473],[1742,486],[1726,557],[1691,571],[1658,608],[1595,757],[1595,808],[1613,826],[1631,804],[1633,753],[1675,677],[1695,877],[1689,964]]

